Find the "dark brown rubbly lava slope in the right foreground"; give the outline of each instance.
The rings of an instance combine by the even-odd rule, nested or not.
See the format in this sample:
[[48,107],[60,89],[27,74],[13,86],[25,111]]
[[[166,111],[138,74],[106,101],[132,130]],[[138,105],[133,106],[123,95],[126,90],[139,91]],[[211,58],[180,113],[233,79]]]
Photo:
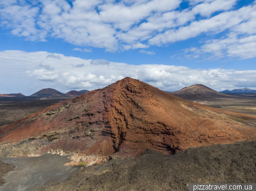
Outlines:
[[[37,190],[187,190],[188,183],[255,183],[256,141],[188,149],[176,155],[147,150],[74,172]],[[71,188],[71,189],[69,189]]]

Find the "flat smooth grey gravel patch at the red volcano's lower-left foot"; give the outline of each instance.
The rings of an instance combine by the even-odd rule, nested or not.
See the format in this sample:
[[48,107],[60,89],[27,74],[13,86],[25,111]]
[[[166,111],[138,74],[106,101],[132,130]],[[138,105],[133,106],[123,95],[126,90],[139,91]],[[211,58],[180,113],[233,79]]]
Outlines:
[[[79,168],[79,166],[64,166],[64,164],[70,162],[69,158],[52,154],[29,158],[3,158],[0,160],[10,163],[10,172],[3,177],[6,183],[0,186],[0,190],[5,191],[30,191],[47,183],[50,185],[51,182],[65,181],[70,174]],[[0,163],[0,172],[4,169],[7,169],[7,166]]]

